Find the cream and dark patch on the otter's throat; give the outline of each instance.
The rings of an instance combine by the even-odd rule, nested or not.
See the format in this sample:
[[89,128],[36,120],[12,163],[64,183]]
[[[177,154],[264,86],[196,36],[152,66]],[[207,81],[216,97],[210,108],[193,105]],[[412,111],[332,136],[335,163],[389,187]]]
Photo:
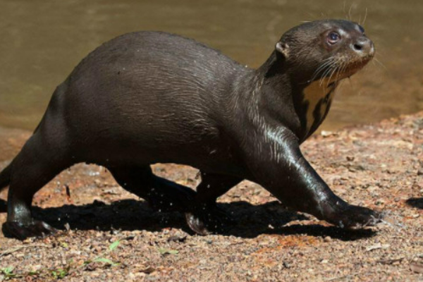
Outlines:
[[326,118],[338,82],[327,79],[317,80],[308,85],[303,91],[305,105],[305,137],[311,135]]

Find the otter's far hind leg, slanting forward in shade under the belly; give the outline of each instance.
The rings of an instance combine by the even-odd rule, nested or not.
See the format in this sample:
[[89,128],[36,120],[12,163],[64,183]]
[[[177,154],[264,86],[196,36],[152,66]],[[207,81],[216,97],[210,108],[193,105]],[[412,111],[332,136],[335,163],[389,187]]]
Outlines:
[[195,199],[194,190],[155,176],[149,166],[111,167],[109,171],[122,188],[160,212],[185,212]]

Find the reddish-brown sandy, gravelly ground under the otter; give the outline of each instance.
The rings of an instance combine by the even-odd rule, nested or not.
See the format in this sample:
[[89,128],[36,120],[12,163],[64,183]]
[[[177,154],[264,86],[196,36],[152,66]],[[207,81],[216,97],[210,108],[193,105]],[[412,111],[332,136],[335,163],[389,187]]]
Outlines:
[[[0,168],[28,136],[0,130]],[[423,113],[322,133],[302,151],[338,195],[383,210],[386,223],[344,231],[245,181],[219,199],[236,221],[230,231],[193,235],[182,214],[152,212],[104,168],[79,164],[34,200],[35,217],[61,234],[0,234],[0,281],[423,281]],[[154,171],[200,181],[185,166]]]

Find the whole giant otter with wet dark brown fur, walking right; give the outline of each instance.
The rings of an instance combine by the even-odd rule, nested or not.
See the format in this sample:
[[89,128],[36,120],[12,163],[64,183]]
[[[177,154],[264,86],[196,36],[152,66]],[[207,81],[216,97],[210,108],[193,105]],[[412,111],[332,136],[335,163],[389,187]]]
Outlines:
[[[380,214],[337,197],[299,147],[326,117],[338,82],[373,56],[363,28],[348,20],[293,27],[258,69],[164,32],[111,39],[56,88],[0,173],[0,187],[10,184],[4,231],[20,239],[53,233],[32,219],[32,197],[79,162],[105,166],[152,207],[185,212],[200,234],[224,222],[216,198],[244,179],[337,226],[374,225]],[[199,168],[197,192],[155,176],[150,164],[158,162]]]

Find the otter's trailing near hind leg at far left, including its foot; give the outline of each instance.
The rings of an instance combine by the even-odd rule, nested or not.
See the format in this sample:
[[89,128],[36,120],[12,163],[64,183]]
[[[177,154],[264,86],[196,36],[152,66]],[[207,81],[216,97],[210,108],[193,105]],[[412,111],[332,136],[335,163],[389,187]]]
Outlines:
[[66,147],[61,133],[37,130],[28,140],[11,168],[8,190],[7,221],[4,234],[24,240],[55,233],[56,230],[43,221],[32,218],[32,197],[63,169],[71,166],[66,157]]

